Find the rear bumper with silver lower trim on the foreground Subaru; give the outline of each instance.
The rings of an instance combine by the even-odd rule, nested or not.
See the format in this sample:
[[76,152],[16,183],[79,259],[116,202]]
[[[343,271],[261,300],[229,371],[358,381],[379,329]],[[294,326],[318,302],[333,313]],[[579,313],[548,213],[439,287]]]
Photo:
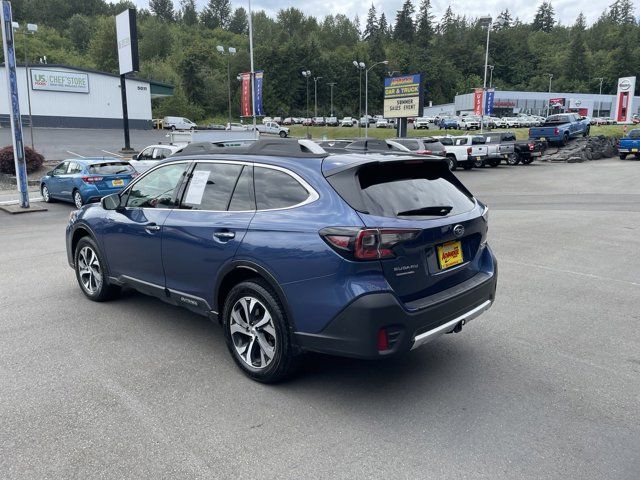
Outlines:
[[[498,270],[480,272],[471,279],[431,298],[412,302],[408,310],[392,293],[358,297],[320,333],[296,332],[298,345],[306,351],[356,358],[381,358],[412,350],[450,333],[491,307],[495,299]],[[387,350],[378,351],[378,333],[385,328]]]

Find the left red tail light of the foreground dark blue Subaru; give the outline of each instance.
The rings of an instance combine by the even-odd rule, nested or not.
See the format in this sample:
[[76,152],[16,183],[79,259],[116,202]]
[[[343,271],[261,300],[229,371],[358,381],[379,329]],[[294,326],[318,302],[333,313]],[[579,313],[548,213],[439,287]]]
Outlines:
[[320,236],[340,255],[352,260],[393,258],[393,247],[415,239],[420,230],[409,228],[328,227]]

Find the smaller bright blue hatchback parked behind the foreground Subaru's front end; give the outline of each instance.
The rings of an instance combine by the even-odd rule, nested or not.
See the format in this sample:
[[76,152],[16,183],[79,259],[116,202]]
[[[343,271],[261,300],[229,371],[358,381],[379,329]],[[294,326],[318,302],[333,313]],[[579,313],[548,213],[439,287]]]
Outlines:
[[73,202],[77,208],[122,190],[137,176],[136,170],[117,158],[64,160],[40,180],[45,202]]

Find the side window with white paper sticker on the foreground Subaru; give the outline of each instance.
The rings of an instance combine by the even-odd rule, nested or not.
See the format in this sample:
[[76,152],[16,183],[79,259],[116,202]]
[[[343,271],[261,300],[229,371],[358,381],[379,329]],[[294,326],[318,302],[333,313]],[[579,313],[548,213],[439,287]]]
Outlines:
[[226,211],[241,172],[233,163],[198,163],[180,208]]

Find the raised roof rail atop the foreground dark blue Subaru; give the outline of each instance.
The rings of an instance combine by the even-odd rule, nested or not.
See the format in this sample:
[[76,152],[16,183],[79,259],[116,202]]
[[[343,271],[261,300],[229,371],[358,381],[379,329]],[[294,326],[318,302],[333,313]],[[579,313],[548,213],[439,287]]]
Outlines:
[[269,138],[252,142],[247,140],[195,142],[178,150],[174,156],[206,154],[271,155],[292,158],[324,158],[327,156],[327,152],[316,143],[293,138]]

